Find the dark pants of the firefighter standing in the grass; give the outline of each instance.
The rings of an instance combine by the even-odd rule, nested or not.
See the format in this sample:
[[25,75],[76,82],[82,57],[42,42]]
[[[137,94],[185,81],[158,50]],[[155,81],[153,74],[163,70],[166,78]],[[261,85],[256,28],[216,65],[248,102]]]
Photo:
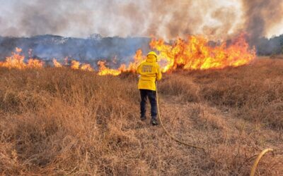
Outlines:
[[139,92],[141,94],[141,117],[144,117],[146,115],[146,99],[147,97],[149,97],[149,102],[151,103],[151,118],[156,118],[156,91],[139,89]]

